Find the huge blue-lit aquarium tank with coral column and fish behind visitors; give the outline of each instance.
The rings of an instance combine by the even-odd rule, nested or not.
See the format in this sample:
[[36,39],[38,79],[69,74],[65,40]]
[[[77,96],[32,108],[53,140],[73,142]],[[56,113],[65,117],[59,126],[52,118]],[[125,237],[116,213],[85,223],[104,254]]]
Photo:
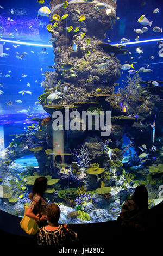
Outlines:
[[135,188],[163,200],[162,1],[0,6],[0,209],[39,176],[60,223],[116,220]]

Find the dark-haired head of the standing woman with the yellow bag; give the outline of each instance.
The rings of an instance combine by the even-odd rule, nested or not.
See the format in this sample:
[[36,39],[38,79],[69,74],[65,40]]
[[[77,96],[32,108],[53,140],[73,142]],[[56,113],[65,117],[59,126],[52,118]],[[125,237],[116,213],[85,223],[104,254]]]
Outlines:
[[32,188],[33,194],[39,194],[41,197],[43,197],[44,192],[47,188],[47,178],[46,177],[39,177],[35,180],[35,183]]

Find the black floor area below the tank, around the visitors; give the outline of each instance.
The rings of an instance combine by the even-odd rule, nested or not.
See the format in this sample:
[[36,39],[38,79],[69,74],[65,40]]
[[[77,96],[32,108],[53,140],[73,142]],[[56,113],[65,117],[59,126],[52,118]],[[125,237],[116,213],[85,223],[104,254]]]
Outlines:
[[[148,211],[148,226],[145,231],[122,229],[117,221],[94,224],[71,224],[70,228],[76,231],[80,241],[78,244],[70,245],[70,248],[78,248],[78,254],[76,255],[91,253],[89,251],[82,253],[83,248],[95,248],[95,251],[96,248],[99,248],[98,250],[104,248],[102,255],[110,252],[111,248],[114,248],[114,254],[117,254],[116,252],[123,251],[123,247],[125,248],[127,246],[127,248],[129,248],[131,245],[136,246],[136,250],[139,246],[141,249],[159,248],[159,246],[162,245],[163,202]],[[12,216],[2,211],[0,212],[1,249],[7,249],[6,252],[12,252],[13,250],[15,252],[16,250],[21,253],[23,253],[22,247],[27,252],[33,247],[37,248],[39,251],[40,249],[42,250],[40,246],[37,246],[33,236],[26,235],[20,228],[20,220],[21,218],[17,216]],[[159,242],[159,240],[161,242]],[[55,255],[61,255],[59,251],[57,252],[58,253]],[[99,252],[98,255],[101,255],[101,253],[102,251]],[[71,253],[69,252],[69,254]],[[93,255],[95,255],[95,253],[93,253]]]

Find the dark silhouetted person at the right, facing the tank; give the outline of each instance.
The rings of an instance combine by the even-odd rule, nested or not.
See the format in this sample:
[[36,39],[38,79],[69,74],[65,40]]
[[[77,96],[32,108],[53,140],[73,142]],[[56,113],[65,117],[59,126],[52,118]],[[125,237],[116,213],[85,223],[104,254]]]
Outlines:
[[118,221],[123,227],[133,227],[136,230],[144,230],[148,210],[148,191],[145,185],[135,188],[133,196],[122,206]]

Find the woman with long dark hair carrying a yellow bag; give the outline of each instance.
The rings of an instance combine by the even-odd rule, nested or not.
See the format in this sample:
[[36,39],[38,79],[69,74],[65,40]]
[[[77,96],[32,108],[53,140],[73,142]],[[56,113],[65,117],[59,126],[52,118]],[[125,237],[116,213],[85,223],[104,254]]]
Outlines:
[[36,220],[39,227],[47,224],[45,217],[47,202],[43,198],[43,194],[45,193],[46,188],[47,178],[43,176],[36,178],[32,188],[32,193],[28,195],[32,203],[26,211],[26,216]]

